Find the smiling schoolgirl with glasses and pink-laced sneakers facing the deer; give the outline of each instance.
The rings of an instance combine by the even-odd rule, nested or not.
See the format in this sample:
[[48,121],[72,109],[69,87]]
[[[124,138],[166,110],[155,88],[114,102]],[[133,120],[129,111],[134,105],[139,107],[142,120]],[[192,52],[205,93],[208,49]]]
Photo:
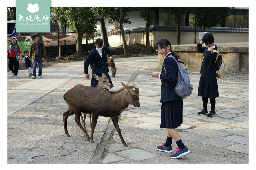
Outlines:
[[[180,135],[177,131],[178,126],[182,124],[182,107],[183,100],[174,91],[174,87],[177,83],[178,77],[178,65],[177,59],[179,56],[175,54],[171,49],[171,43],[167,39],[161,39],[156,43],[156,51],[165,57],[163,62],[162,71],[149,73],[152,77],[159,77],[162,81],[161,85],[161,124],[160,128],[167,129],[167,139],[166,142],[161,146],[157,146],[158,151],[164,151],[166,153],[172,153],[172,139],[175,140],[178,148],[174,149],[176,151],[171,158],[177,159],[184,156],[190,151],[183,144],[180,139]],[[174,56],[176,61],[168,56]]]

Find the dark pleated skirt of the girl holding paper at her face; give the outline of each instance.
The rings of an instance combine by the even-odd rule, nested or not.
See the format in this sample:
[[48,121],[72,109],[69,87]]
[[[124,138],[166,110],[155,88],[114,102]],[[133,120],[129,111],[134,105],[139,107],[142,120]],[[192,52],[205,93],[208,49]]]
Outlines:
[[201,76],[197,94],[205,98],[219,97],[217,78],[204,78]]

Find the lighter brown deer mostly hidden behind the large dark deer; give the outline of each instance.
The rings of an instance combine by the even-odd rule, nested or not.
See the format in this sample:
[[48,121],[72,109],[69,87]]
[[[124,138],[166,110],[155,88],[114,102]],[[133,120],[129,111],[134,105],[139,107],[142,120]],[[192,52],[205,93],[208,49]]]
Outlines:
[[[98,80],[98,84],[96,85],[95,88],[98,88],[98,89],[102,89],[102,90],[109,90],[113,87],[113,85],[111,85],[111,83],[109,83],[109,80],[108,78],[106,77],[106,74],[102,73],[101,74],[101,77],[99,77],[97,74],[92,74],[92,76]],[[82,123],[84,124],[84,130],[85,129],[85,118],[86,118],[86,114],[83,113],[84,115],[84,119],[83,119],[83,116],[81,114],[81,121]],[[90,130],[92,130],[92,114],[90,113],[89,114],[89,119],[90,119]]]

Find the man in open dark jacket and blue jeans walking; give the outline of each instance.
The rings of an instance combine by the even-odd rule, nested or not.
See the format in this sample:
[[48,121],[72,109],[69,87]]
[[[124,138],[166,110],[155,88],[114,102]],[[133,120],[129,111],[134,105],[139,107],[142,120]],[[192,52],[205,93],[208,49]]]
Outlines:
[[39,41],[38,35],[33,35],[33,40],[34,42],[31,44],[30,51],[29,51],[29,56],[32,58],[33,62],[33,75],[31,78],[36,79],[36,66],[37,62],[39,65],[39,70],[38,70],[38,78],[42,78],[42,70],[43,70],[43,61],[44,56],[46,54],[44,43]]

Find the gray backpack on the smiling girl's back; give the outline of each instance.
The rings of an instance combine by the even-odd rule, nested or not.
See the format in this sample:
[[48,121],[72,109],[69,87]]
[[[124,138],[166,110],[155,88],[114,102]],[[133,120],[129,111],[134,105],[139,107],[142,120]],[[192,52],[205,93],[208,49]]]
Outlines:
[[[176,58],[174,56],[168,56],[172,57],[175,61]],[[190,84],[190,78],[188,76],[187,69],[181,65],[178,61],[178,78],[176,87],[174,88],[176,94],[180,96],[182,99],[186,98],[187,96],[190,96],[193,90],[193,85]]]

